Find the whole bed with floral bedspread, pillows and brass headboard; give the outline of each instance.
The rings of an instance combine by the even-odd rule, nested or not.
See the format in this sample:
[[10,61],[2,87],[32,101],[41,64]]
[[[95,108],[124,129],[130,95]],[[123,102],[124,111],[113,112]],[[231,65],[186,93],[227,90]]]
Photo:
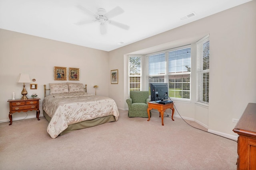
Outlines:
[[[43,115],[49,122],[47,132],[53,139],[58,135],[117,121],[116,102],[108,97],[87,93],[82,83],[50,83],[44,85]],[[50,94],[46,96],[46,91]]]

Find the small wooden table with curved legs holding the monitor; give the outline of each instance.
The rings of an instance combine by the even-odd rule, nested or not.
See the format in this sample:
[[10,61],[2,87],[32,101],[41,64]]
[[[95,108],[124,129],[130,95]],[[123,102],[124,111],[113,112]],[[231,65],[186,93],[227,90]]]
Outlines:
[[172,120],[173,119],[173,114],[174,114],[174,105],[173,103],[169,104],[158,104],[156,102],[148,102],[148,121],[150,120],[150,110],[151,109],[157,109],[159,111],[159,117],[162,119],[162,125],[164,125],[164,111],[166,109],[172,109]]

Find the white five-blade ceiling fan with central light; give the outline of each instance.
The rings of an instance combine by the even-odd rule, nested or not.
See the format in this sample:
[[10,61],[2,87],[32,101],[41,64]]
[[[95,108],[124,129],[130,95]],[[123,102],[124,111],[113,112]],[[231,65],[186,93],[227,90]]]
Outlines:
[[98,12],[96,12],[96,13],[92,12],[91,10],[89,10],[81,5],[78,5],[77,7],[80,8],[80,10],[82,10],[86,14],[94,16],[94,20],[80,21],[80,22],[75,23],[76,25],[82,25],[82,24],[98,21],[100,23],[100,33],[102,35],[106,34],[106,32],[107,32],[106,23],[109,23],[111,25],[114,25],[116,27],[120,27],[120,28],[126,29],[126,30],[128,30],[130,28],[130,26],[128,26],[128,25],[110,20],[110,18],[118,16],[124,12],[124,10],[122,10],[122,8],[120,8],[119,6],[110,10],[109,12],[106,12],[105,9],[100,8],[100,9],[98,9]]

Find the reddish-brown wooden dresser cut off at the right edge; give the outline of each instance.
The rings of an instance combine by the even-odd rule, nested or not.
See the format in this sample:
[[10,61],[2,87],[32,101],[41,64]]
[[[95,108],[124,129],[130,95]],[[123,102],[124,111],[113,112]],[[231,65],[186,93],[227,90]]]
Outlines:
[[249,103],[233,131],[238,134],[237,169],[256,170],[256,104]]

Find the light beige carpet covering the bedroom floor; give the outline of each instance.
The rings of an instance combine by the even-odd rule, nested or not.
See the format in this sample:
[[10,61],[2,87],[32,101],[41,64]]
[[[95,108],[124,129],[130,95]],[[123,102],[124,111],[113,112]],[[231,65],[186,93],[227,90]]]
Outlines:
[[[157,112],[52,139],[44,117],[0,123],[1,170],[235,170],[237,143]],[[166,113],[165,113],[166,116]]]

